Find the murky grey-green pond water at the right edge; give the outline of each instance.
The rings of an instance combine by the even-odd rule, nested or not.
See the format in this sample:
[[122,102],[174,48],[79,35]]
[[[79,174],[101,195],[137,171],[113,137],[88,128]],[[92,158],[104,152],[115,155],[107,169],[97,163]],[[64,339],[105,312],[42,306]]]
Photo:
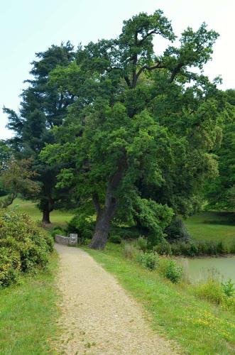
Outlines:
[[231,278],[235,283],[235,256],[231,258],[185,258],[182,259],[190,280],[207,279],[210,273],[219,272],[219,276],[224,280]]

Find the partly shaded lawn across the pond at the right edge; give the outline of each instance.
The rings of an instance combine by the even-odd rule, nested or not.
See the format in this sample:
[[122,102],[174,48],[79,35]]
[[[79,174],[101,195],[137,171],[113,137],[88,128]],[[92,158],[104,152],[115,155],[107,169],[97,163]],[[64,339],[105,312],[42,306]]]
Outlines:
[[232,212],[202,212],[186,219],[185,225],[197,240],[235,243],[235,214]]

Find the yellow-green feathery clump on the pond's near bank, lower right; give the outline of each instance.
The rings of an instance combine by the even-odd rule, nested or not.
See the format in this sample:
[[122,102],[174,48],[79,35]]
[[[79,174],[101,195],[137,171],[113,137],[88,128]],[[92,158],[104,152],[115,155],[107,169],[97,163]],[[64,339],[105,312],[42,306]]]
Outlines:
[[195,294],[216,305],[221,305],[225,297],[222,285],[217,280],[207,280],[207,283],[195,286]]

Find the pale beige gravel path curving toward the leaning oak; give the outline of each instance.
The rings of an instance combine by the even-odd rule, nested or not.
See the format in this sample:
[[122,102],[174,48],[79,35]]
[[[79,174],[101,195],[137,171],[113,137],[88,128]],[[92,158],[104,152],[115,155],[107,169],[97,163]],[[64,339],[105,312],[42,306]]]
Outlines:
[[174,354],[170,343],[148,327],[141,307],[91,256],[77,248],[55,248],[63,327],[58,353]]

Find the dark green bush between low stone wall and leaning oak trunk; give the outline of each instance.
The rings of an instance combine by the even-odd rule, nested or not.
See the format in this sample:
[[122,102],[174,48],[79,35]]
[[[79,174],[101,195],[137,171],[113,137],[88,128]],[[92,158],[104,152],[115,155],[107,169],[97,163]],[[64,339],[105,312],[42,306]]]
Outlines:
[[84,244],[85,239],[92,239],[94,234],[94,222],[87,219],[87,214],[76,214],[67,224],[67,234],[77,233],[77,241]]

